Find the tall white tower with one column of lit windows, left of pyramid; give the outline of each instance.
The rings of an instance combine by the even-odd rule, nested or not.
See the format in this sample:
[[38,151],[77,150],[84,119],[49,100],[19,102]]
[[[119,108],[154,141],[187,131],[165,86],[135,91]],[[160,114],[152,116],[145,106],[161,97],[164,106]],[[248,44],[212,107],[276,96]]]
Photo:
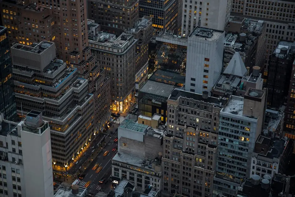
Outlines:
[[223,68],[224,31],[197,27],[188,37],[185,90],[210,92]]

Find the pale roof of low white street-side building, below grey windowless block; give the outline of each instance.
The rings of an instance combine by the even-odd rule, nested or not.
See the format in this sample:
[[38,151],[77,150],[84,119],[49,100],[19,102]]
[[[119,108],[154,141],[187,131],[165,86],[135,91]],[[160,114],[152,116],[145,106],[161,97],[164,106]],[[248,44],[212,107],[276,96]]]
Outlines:
[[154,171],[153,163],[157,165],[161,165],[161,160],[156,159],[145,159],[141,157],[136,157],[127,153],[116,153],[112,159],[113,161],[117,161],[120,163],[126,163],[128,165],[136,166],[137,168],[148,169]]

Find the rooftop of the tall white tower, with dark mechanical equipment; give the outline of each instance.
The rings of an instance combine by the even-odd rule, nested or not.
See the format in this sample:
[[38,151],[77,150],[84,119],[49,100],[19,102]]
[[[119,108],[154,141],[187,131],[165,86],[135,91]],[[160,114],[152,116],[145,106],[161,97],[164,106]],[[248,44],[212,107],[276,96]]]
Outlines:
[[209,29],[205,27],[196,27],[188,38],[197,38],[200,40],[217,41],[222,36],[224,31]]

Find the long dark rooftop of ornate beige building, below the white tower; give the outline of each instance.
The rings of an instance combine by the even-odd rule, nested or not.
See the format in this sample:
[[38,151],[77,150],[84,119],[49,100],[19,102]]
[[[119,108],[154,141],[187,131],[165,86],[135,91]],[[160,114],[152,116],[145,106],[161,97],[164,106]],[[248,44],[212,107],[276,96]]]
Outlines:
[[214,107],[223,107],[223,105],[226,103],[226,99],[220,99],[220,98],[216,98],[216,97],[211,97],[208,96],[207,99],[203,98],[202,94],[198,94],[198,93],[192,93],[192,92],[188,92],[179,88],[175,88],[173,90],[173,92],[171,93],[171,96],[169,97],[170,100],[177,100],[179,97],[183,97],[183,98],[191,98],[197,101],[203,101],[206,103],[211,103],[214,105]]

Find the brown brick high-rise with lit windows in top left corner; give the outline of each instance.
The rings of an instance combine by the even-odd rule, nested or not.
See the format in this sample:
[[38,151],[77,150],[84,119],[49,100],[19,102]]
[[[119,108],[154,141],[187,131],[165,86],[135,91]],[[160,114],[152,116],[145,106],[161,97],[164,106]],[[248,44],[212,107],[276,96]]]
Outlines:
[[[17,39],[17,43],[21,41],[21,44],[30,45],[42,40],[54,41],[59,58],[67,64],[78,64],[78,68],[84,66],[81,61],[87,60],[82,58],[83,49],[88,45],[86,6],[84,0],[75,3],[70,0],[62,3],[8,0],[1,2],[5,19],[4,14],[1,16],[3,24],[10,25],[10,37]],[[13,45],[13,42],[10,44]]]

